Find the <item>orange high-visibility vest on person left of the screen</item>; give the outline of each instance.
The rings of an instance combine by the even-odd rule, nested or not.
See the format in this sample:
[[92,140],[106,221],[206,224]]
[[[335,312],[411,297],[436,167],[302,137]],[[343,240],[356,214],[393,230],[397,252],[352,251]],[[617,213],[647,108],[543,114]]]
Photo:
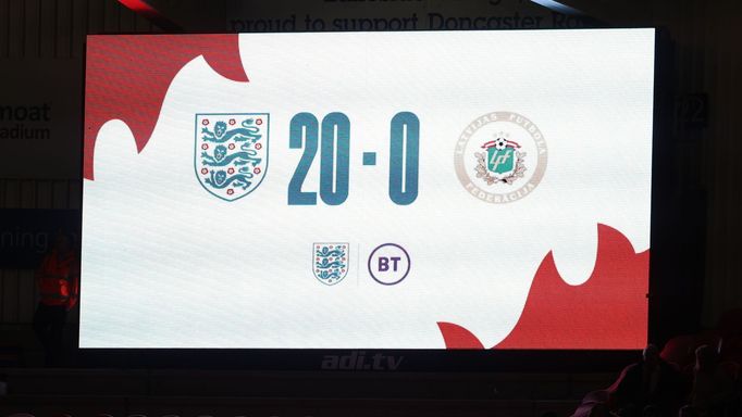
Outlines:
[[41,302],[72,308],[77,303],[79,291],[78,270],[77,260],[73,253],[60,260],[57,251],[51,251],[36,271]]

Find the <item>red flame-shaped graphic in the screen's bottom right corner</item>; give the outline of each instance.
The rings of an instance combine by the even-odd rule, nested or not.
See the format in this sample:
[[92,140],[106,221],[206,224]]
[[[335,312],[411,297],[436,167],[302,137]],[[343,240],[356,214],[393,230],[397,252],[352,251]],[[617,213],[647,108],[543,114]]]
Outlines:
[[[618,230],[597,225],[595,268],[584,283],[565,282],[549,252],[541,262],[518,323],[493,349],[642,349],[646,344],[650,251],[635,253]],[[447,349],[483,349],[463,327],[438,323]]]

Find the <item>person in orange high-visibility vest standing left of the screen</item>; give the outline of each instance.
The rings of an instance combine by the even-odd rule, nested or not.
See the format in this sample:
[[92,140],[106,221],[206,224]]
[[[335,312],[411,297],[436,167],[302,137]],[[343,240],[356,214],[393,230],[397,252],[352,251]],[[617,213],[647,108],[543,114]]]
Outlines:
[[34,331],[46,352],[47,366],[59,365],[64,351],[67,312],[79,295],[79,261],[72,236],[59,232],[51,252],[36,270],[40,300],[34,315]]

